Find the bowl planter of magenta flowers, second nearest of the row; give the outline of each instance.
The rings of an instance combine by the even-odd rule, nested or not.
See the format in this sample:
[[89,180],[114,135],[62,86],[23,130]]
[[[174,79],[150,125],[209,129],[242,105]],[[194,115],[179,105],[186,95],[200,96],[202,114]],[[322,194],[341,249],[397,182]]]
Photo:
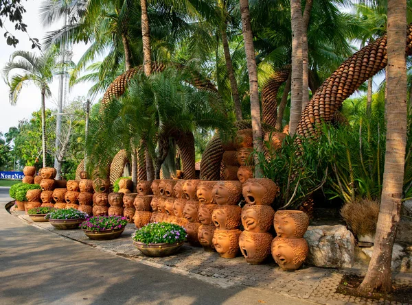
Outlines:
[[89,239],[106,240],[119,237],[126,228],[127,219],[122,216],[93,216],[80,223],[80,229]]

